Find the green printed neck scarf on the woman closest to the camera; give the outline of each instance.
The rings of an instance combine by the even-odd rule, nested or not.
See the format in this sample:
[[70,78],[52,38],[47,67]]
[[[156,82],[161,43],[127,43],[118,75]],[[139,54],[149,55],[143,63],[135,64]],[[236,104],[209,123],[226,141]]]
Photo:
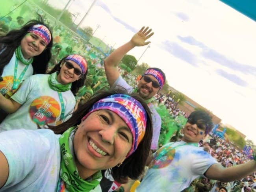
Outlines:
[[[91,176],[90,181],[85,181],[78,175],[78,170],[70,151],[70,146],[73,142],[72,138],[74,137],[75,133],[73,130],[75,128],[76,127],[70,127],[59,138],[59,146],[61,150],[61,165],[59,174],[69,192],[88,192],[100,184],[102,175],[101,171],[98,171]],[[57,191],[60,191],[59,187]]]

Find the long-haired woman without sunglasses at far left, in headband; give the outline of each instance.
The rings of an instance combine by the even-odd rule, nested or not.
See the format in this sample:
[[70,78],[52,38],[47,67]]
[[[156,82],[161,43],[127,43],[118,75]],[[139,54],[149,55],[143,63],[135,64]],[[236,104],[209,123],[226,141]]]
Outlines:
[[[52,33],[41,21],[31,20],[0,37],[0,94],[9,98],[33,74],[45,74],[51,58]],[[7,114],[0,109],[0,122]]]

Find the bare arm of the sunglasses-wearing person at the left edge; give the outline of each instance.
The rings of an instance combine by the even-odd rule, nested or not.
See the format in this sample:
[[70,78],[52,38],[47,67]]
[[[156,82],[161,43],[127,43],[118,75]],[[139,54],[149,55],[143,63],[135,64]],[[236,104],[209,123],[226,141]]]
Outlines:
[[0,108],[3,109],[6,113],[14,113],[20,108],[20,106],[20,103],[17,103],[12,99],[7,99],[2,94],[0,94]]

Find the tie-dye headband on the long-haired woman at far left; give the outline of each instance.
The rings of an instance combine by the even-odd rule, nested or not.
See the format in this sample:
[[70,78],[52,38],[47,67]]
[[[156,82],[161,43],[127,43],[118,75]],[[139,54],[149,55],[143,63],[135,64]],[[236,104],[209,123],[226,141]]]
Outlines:
[[47,45],[49,44],[49,42],[51,41],[51,38],[52,38],[50,30],[42,24],[36,24],[36,25],[31,26],[28,29],[28,32],[35,33],[35,34],[39,35],[40,37],[42,37]]

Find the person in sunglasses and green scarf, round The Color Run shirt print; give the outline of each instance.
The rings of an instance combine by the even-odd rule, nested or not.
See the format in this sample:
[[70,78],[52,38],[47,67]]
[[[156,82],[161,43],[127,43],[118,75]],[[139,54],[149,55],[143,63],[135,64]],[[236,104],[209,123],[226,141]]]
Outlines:
[[26,79],[11,99],[0,94],[0,108],[10,113],[0,124],[0,131],[37,129],[65,122],[74,111],[74,94],[82,87],[86,74],[86,60],[72,54],[63,58],[50,74]]

